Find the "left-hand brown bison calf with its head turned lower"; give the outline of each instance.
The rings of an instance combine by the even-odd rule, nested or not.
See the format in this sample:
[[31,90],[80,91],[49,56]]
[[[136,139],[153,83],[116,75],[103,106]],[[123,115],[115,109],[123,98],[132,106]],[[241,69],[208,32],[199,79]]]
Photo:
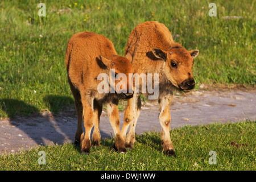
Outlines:
[[[99,75],[110,75],[110,69],[115,75],[123,73],[129,77],[133,73],[130,60],[126,57],[117,56],[113,43],[102,35],[93,32],[80,32],[72,36],[67,45],[65,65],[68,73],[68,82],[75,98],[77,113],[77,131],[75,143],[81,143],[81,153],[89,153],[91,146],[90,133],[94,126],[92,144],[100,144],[99,122],[102,104],[107,103],[110,123],[115,134],[115,147],[118,151],[125,152],[125,143],[120,135],[118,100],[133,97],[132,86],[129,81],[116,80],[115,76],[105,77],[108,92],[99,92],[98,85],[102,82]],[[110,80],[110,79],[113,79]],[[106,81],[106,80],[105,80]],[[120,84],[117,94],[115,86]],[[110,92],[114,90],[114,92]],[[85,134],[82,131],[84,120]]]

